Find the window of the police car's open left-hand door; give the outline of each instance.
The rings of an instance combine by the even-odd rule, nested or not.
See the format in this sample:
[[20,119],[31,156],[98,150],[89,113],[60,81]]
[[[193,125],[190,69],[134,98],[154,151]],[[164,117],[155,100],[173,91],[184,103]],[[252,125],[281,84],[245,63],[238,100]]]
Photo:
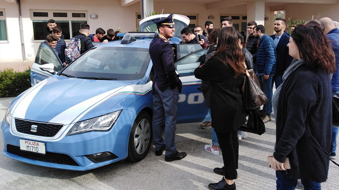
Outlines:
[[58,72],[62,69],[59,58],[55,54],[54,50],[46,43],[41,43],[39,50],[36,54],[35,63],[39,65],[53,63],[54,71]]

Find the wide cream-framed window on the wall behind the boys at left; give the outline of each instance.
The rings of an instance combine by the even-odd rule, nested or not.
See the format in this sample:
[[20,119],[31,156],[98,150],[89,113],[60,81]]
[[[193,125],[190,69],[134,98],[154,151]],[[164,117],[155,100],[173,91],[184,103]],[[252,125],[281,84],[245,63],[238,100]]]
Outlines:
[[87,23],[86,11],[30,10],[33,24],[33,40],[45,40],[49,34],[47,21],[53,19],[62,29],[64,39],[79,34],[80,25]]

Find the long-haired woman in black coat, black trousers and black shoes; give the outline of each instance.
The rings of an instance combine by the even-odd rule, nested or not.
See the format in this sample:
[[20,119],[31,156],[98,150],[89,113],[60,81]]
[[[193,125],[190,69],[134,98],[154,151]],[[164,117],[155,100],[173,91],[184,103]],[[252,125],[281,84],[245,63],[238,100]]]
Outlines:
[[208,188],[212,190],[235,190],[239,150],[237,129],[245,122],[241,94],[244,59],[235,29],[224,27],[218,32],[214,55],[194,71],[196,78],[209,81],[212,127],[224,164],[224,167],[213,170],[224,178],[218,183],[209,184]]

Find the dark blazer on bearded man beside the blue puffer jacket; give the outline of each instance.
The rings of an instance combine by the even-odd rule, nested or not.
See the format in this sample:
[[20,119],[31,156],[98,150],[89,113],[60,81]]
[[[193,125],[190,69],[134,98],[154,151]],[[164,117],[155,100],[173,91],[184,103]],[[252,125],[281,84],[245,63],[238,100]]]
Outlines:
[[[275,34],[270,35],[269,37],[274,40]],[[276,75],[282,75],[293,60],[293,57],[288,54],[288,40],[289,35],[283,33],[276,46]]]

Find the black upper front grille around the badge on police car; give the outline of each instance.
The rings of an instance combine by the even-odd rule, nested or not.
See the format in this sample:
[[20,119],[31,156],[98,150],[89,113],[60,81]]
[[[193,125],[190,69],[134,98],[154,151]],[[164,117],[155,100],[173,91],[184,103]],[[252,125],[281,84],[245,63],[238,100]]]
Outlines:
[[[30,127],[32,125],[37,126],[36,132],[30,131]],[[29,134],[29,135],[36,135],[36,136],[42,136],[42,137],[54,137],[56,133],[59,132],[62,127],[63,125],[59,125],[59,124],[39,123],[39,122],[22,120],[22,119],[15,119],[16,131],[20,133]]]

